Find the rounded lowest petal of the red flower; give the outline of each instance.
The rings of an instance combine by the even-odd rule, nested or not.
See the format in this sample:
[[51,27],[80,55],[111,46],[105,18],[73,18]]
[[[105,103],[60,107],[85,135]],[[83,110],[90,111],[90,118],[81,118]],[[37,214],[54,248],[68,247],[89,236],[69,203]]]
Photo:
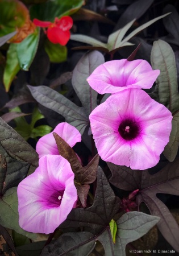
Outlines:
[[63,31],[59,27],[49,27],[47,37],[53,44],[61,44],[65,46],[70,39],[70,31]]

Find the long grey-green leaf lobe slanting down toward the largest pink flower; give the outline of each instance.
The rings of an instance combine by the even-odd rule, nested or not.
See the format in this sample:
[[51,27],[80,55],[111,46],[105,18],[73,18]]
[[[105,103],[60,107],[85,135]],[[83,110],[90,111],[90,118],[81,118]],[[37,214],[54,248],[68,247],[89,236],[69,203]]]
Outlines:
[[78,107],[68,98],[47,86],[34,87],[28,85],[28,88],[36,101],[46,108],[63,115],[66,122],[76,127],[81,134],[84,133],[86,126],[89,125],[89,117],[86,117],[84,108]]

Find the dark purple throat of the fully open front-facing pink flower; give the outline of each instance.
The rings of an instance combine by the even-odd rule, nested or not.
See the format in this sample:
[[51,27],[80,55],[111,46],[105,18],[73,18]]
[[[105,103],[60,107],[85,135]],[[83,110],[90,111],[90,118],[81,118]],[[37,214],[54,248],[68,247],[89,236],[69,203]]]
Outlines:
[[131,141],[139,135],[139,123],[130,119],[125,119],[120,123],[118,131],[123,139]]

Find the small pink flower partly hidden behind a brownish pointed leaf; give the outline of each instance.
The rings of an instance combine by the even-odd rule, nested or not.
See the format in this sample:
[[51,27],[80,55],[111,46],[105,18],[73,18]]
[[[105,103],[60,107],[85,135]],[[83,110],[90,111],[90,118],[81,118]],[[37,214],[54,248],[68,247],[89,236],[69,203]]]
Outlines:
[[59,123],[52,131],[52,133],[46,134],[41,137],[36,144],[36,151],[39,154],[39,158],[44,155],[59,155],[59,150],[55,138],[53,137],[53,132],[57,133],[65,142],[73,147],[77,142],[81,142],[80,132],[69,123]]

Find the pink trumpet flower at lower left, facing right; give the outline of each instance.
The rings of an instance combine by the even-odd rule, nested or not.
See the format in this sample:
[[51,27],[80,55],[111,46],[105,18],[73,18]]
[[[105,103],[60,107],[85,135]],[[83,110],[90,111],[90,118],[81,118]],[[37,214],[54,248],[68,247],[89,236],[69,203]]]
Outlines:
[[47,155],[18,185],[19,225],[34,233],[52,233],[77,203],[77,189],[69,162]]

